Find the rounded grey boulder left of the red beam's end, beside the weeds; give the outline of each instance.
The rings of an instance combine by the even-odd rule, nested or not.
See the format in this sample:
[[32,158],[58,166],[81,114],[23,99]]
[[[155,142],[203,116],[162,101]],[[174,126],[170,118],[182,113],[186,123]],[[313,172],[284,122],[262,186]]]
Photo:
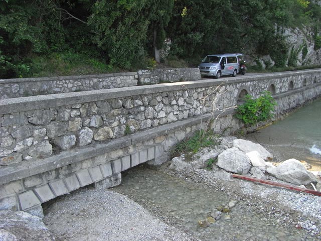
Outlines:
[[238,174],[246,174],[251,168],[248,157],[236,147],[222,152],[218,156],[216,165],[226,171]]

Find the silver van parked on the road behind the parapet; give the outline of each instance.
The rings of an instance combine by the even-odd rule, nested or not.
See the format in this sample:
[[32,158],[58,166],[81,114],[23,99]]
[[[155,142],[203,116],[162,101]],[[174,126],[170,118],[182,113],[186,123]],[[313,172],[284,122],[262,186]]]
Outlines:
[[221,78],[222,75],[236,76],[239,62],[236,54],[213,54],[206,56],[199,65],[201,75]]

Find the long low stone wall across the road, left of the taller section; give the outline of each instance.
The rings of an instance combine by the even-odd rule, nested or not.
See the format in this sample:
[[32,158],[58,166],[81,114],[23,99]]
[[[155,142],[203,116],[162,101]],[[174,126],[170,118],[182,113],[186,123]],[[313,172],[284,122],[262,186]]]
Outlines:
[[48,78],[0,79],[0,98],[8,99],[136,85],[136,72]]

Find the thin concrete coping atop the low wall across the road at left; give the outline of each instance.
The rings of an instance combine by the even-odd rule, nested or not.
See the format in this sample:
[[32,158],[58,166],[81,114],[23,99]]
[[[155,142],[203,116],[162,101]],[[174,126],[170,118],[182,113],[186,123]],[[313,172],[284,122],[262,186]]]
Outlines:
[[90,74],[90,75],[70,75],[70,76],[37,77],[37,78],[0,79],[0,84],[22,83],[22,82],[37,82],[37,81],[70,80],[70,79],[77,80],[77,79],[91,79],[91,78],[130,76],[130,75],[137,75],[137,72],[110,73],[110,74]]

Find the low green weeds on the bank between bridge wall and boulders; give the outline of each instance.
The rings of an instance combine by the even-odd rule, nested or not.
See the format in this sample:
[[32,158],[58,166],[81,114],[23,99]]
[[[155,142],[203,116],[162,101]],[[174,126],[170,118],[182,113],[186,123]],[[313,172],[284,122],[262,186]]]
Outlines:
[[186,138],[179,142],[172,150],[172,157],[176,157],[185,153],[185,158],[197,153],[200,148],[214,146],[217,143],[217,136],[213,132],[197,131],[192,137]]

